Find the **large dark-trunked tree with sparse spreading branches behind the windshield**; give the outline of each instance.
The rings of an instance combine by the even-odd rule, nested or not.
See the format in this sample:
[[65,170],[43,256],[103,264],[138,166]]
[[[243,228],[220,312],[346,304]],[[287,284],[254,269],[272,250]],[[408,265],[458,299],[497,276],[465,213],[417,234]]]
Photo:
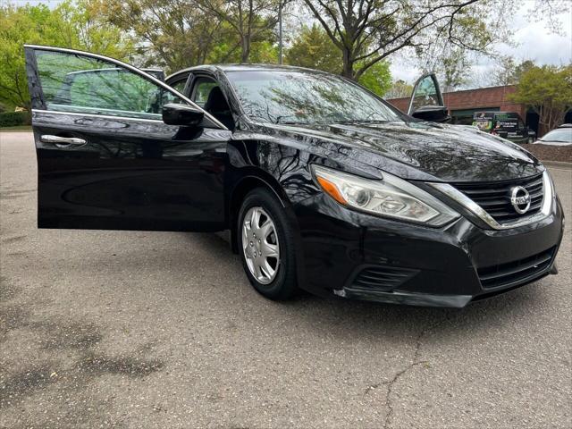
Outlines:
[[[504,31],[493,0],[305,0],[341,51],[341,73],[358,80],[369,67],[408,47],[424,49],[447,39],[484,51]],[[494,7],[492,7],[494,6]]]

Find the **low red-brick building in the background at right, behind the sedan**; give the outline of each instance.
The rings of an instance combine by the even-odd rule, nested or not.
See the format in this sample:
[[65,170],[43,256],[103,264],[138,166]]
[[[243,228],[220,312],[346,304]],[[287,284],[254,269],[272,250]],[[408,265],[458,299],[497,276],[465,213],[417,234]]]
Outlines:
[[[446,92],[443,94],[445,105],[451,115],[451,123],[473,122],[473,114],[479,111],[502,111],[516,112],[520,115],[526,125],[538,133],[538,114],[535,114],[526,105],[519,105],[509,100],[509,94],[517,89],[514,85],[506,87],[490,87],[479,89],[467,89],[465,91]],[[409,97],[393,98],[387,100],[400,111],[407,112]],[[567,114],[565,122],[572,121],[571,113]]]

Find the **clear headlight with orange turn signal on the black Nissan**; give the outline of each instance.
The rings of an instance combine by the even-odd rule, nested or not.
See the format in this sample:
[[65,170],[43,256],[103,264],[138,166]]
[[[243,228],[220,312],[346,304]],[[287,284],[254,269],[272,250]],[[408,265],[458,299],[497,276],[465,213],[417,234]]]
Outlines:
[[343,206],[377,216],[442,226],[459,214],[408,181],[383,172],[383,180],[364,179],[312,164],[315,180]]

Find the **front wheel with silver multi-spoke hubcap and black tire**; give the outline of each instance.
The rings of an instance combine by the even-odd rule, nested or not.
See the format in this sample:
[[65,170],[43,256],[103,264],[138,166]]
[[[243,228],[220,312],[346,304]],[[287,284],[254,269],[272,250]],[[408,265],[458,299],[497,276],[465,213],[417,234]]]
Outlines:
[[270,191],[248,193],[237,225],[239,253],[252,286],[269,299],[289,299],[298,290],[293,227]]

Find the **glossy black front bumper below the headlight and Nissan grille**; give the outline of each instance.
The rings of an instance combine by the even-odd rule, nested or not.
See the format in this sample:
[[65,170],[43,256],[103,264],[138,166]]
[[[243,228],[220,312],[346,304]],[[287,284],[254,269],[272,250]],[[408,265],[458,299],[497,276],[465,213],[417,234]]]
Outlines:
[[295,206],[300,280],[312,293],[429,307],[465,307],[554,271],[558,199],[538,223],[485,230],[467,217],[442,229],[350,211],[318,195]]

